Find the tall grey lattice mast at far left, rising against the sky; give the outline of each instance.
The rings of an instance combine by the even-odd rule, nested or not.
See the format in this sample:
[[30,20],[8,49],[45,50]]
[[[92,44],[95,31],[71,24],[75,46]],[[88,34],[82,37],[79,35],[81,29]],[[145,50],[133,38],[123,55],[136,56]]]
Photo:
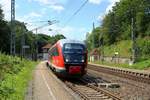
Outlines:
[[10,39],[10,54],[15,56],[15,0],[11,0],[11,39]]

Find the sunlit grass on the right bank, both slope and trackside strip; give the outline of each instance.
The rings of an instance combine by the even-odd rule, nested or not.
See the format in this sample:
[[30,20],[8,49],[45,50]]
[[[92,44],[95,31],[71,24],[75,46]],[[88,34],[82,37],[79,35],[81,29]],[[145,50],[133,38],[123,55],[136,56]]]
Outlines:
[[[143,43],[145,43],[145,41],[148,41],[148,40],[137,39],[137,44],[141,45],[140,47],[142,48]],[[147,43],[147,45],[148,45],[148,43]],[[103,48],[104,56],[112,57],[112,56],[114,56],[115,52],[118,52],[119,57],[130,58],[132,55],[131,54],[132,53],[131,47],[132,47],[132,41],[131,40],[123,40],[123,41],[120,41],[118,43],[115,43],[115,44],[112,44],[109,46],[105,45]],[[148,48],[148,46],[145,48]],[[146,55],[148,56],[148,54],[146,54]],[[137,62],[135,64],[133,64],[132,66],[129,66],[129,64],[115,64],[115,63],[110,63],[110,62],[103,62],[102,63],[99,61],[96,61],[93,63],[104,64],[104,65],[115,66],[115,67],[122,67],[122,68],[140,69],[140,70],[150,68],[149,56],[147,58],[145,58],[145,56],[143,57],[141,55],[138,55],[138,56],[139,56],[139,58],[138,58]]]

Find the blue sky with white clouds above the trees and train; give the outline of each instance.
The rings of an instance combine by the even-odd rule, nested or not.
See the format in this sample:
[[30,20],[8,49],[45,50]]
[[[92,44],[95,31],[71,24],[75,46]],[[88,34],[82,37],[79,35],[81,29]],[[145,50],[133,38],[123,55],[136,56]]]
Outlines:
[[[93,22],[100,26],[104,16],[119,0],[15,0],[15,19],[26,23],[28,30],[38,29],[47,35],[63,34],[68,39],[85,40],[91,32]],[[10,20],[11,0],[0,0],[5,20]],[[48,20],[57,22],[48,25]],[[34,31],[33,31],[34,32]],[[34,32],[35,33],[35,32]]]

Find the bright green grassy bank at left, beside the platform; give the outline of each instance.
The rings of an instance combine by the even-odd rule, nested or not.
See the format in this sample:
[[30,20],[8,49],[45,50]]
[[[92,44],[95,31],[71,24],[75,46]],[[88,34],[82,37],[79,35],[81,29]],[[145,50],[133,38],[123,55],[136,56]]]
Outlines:
[[0,54],[0,62],[2,61],[4,64],[0,66],[0,71],[3,72],[0,80],[0,100],[24,100],[28,82],[37,63]]

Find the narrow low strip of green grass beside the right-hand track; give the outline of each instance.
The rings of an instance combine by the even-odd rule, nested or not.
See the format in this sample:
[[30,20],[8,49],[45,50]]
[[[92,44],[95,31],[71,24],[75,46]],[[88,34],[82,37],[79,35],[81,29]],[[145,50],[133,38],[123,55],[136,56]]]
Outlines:
[[144,70],[144,69],[150,68],[150,59],[145,60],[145,61],[137,62],[137,63],[135,63],[133,65],[118,64],[118,63],[109,63],[109,62],[101,62],[101,61],[95,61],[95,62],[92,62],[92,63],[102,64],[102,65],[108,65],[108,66],[112,66],[112,67],[129,68],[129,69],[139,69],[139,70]]

